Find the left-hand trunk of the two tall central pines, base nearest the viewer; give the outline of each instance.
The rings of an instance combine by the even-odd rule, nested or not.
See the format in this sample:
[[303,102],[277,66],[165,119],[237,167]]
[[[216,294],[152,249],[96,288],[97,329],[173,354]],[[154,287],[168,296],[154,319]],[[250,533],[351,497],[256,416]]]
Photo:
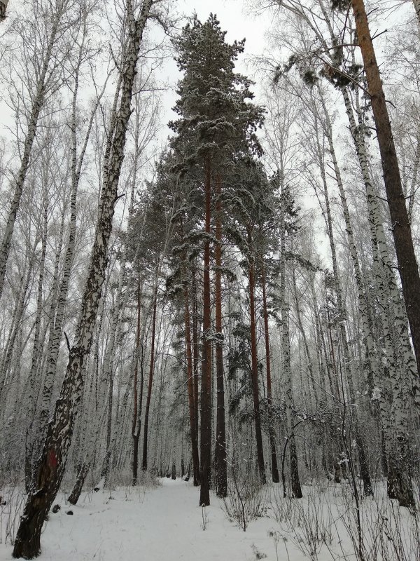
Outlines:
[[210,300],[210,220],[211,220],[211,162],[204,163],[205,224],[207,237],[204,241],[203,273],[203,347],[202,347],[202,387],[201,387],[201,427],[200,427],[200,506],[210,504],[211,475],[211,300]]

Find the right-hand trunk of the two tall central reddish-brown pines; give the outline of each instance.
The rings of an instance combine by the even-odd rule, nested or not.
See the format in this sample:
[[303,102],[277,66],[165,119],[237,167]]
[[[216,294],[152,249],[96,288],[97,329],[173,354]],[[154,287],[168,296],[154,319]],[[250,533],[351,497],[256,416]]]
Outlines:
[[226,466],[226,426],[225,426],[225,388],[223,384],[223,334],[222,334],[222,223],[221,223],[221,176],[216,175],[216,247],[214,261],[216,273],[214,278],[215,319],[216,319],[216,494],[228,496],[228,471]]

